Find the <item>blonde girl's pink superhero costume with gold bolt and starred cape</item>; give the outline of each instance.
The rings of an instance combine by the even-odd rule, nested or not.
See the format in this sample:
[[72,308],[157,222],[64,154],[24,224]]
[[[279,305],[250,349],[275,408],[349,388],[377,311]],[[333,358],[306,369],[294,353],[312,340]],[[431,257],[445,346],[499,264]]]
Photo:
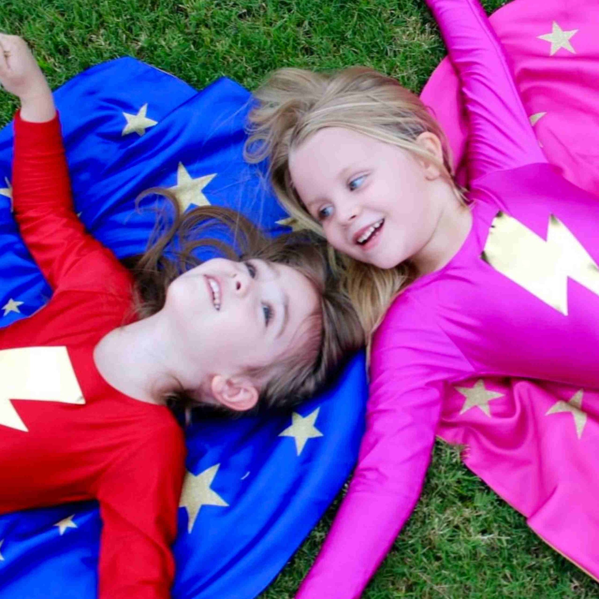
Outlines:
[[[407,288],[376,332],[358,467],[299,599],[360,597],[418,500],[435,434],[464,444],[468,467],[599,577],[599,198],[589,192],[599,191],[599,168],[583,158],[588,140],[577,153],[547,133],[541,149],[532,124],[549,122],[546,105],[561,99],[566,138],[584,140],[591,122],[597,131],[598,63],[575,61],[583,48],[599,53],[599,10],[559,0],[503,9],[508,50],[515,24],[528,40],[521,78],[531,68],[561,73],[544,95],[542,82],[522,83],[539,94],[527,110],[479,3],[427,1],[464,114],[457,93],[448,101],[458,91],[449,65],[423,99],[464,153],[473,225],[449,264]],[[576,102],[594,113],[568,119]]]

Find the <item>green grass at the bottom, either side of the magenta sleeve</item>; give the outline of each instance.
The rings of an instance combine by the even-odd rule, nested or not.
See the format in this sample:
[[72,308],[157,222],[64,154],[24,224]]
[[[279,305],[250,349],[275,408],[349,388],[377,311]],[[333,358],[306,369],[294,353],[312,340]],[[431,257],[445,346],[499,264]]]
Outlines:
[[[294,596],[339,500],[262,599]],[[589,599],[599,597],[599,585],[543,543],[461,464],[455,447],[439,441],[418,506],[362,597]]]

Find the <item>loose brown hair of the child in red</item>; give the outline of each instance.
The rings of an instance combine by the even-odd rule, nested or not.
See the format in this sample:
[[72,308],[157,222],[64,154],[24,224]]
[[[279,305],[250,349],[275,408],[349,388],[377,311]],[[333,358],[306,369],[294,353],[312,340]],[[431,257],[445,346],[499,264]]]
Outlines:
[[[257,409],[288,407],[313,395],[325,385],[340,362],[364,344],[364,334],[351,302],[335,284],[326,260],[322,238],[310,232],[295,232],[270,239],[237,211],[202,206],[181,213],[176,196],[168,189],[153,188],[139,197],[159,194],[167,203],[158,210],[148,249],[127,259],[135,277],[135,311],[144,318],[162,309],[171,282],[201,264],[196,249],[211,247],[225,258],[241,261],[262,259],[285,264],[304,274],[319,294],[319,309],[302,324],[301,346],[264,367],[249,368],[247,374],[265,381]],[[217,230],[232,236],[232,243],[216,238]],[[198,390],[176,389],[168,394],[171,406],[202,404]],[[228,412],[228,410],[226,410]]]

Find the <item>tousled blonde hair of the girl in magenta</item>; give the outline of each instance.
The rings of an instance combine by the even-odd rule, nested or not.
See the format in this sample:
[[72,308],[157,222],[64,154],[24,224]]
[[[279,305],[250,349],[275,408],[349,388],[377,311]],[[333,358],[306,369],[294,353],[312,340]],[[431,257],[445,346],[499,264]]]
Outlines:
[[[270,160],[274,191],[300,225],[323,235],[294,188],[289,152],[326,127],[352,129],[432,161],[463,201],[453,181],[450,148],[441,126],[420,98],[394,78],[363,66],[331,73],[285,68],[275,71],[254,95],[258,102],[249,114],[244,156],[248,162]],[[425,131],[440,139],[442,162],[416,143]],[[417,274],[410,262],[381,269],[332,249],[330,256],[343,272],[344,288],[369,335],[391,301]]]

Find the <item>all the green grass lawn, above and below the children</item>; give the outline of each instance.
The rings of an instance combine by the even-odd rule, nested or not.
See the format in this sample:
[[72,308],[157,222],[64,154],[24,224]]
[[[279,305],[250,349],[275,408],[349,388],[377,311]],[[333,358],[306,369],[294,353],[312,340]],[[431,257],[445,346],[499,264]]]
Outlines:
[[[1,1],[0,31],[25,36],[53,87],[131,55],[195,87],[227,75],[252,89],[280,66],[359,63],[418,92],[444,55],[421,0]],[[14,108],[1,93],[0,124]],[[293,597],[337,505],[263,599]],[[599,597],[599,585],[531,533],[455,449],[437,444],[416,512],[364,597],[582,599]]]

